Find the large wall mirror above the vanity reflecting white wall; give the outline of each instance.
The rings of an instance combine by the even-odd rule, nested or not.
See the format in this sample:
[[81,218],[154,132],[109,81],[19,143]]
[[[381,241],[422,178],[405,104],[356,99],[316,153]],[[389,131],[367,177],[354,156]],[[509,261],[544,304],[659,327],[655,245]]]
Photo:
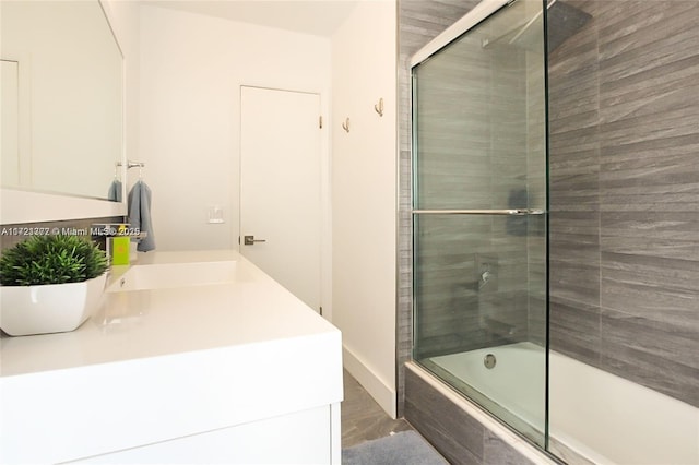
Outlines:
[[107,199],[122,56],[100,3],[0,1],[2,188]]

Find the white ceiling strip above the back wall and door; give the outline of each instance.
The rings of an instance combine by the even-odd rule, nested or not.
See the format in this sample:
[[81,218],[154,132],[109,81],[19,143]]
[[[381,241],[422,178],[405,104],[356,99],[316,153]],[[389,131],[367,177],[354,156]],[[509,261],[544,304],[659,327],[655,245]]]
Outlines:
[[146,0],[143,3],[330,37],[357,0]]

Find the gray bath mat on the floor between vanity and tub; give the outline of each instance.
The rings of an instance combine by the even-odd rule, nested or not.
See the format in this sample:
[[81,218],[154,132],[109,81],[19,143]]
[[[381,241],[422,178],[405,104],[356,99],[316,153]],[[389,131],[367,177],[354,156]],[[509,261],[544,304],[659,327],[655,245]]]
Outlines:
[[342,450],[343,465],[448,465],[415,431],[396,432]]

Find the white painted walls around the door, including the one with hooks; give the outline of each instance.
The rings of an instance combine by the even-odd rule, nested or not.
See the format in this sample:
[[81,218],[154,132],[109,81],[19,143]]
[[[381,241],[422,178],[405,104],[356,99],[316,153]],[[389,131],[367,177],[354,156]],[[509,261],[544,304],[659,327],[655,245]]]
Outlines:
[[[237,247],[241,84],[319,92],[328,115],[332,79],[334,285],[323,309],[343,332],[346,367],[393,416],[395,21],[394,1],[362,1],[329,40],[142,7],[140,64],[140,151],[158,250]],[[346,116],[350,134],[340,128]],[[223,225],[206,224],[213,204]]]

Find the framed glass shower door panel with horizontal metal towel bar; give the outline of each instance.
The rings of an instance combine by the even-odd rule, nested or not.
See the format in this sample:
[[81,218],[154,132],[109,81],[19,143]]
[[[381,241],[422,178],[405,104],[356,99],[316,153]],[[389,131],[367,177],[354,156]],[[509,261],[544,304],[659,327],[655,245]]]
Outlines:
[[414,359],[546,437],[544,2],[413,67]]

